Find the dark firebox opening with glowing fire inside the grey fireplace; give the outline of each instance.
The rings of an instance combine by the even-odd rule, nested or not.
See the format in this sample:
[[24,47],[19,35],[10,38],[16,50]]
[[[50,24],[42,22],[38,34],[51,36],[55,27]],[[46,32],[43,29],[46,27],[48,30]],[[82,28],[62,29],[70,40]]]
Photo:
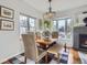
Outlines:
[[87,34],[79,34],[79,48],[87,48]]

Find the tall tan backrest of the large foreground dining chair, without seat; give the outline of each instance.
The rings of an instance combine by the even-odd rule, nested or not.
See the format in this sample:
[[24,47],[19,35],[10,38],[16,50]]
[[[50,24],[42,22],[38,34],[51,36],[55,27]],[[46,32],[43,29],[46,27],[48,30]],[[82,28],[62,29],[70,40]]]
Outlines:
[[22,34],[25,57],[36,61],[37,47],[34,36],[35,35],[33,32],[29,32],[28,34]]

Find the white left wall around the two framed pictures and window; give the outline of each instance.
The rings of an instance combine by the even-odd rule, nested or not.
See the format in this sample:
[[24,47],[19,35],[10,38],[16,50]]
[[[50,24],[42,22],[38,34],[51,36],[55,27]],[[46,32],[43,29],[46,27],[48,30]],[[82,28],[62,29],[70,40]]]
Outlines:
[[0,6],[14,10],[14,31],[0,31],[0,63],[23,52],[23,44],[19,39],[19,15],[20,12],[41,18],[41,12],[30,7],[22,0],[0,0]]

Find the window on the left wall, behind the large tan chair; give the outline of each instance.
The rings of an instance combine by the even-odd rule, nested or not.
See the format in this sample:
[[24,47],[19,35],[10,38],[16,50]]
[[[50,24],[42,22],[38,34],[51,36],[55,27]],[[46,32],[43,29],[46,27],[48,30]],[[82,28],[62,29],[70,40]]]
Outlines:
[[35,18],[20,14],[20,37],[29,31],[35,31]]

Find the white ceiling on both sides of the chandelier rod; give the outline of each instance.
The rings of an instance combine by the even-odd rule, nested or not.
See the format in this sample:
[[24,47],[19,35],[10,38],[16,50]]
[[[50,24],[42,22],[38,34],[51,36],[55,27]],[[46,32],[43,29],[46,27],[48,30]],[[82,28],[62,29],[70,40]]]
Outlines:
[[[48,0],[24,0],[39,11],[48,11]],[[52,0],[53,11],[64,11],[87,4],[87,0]]]

